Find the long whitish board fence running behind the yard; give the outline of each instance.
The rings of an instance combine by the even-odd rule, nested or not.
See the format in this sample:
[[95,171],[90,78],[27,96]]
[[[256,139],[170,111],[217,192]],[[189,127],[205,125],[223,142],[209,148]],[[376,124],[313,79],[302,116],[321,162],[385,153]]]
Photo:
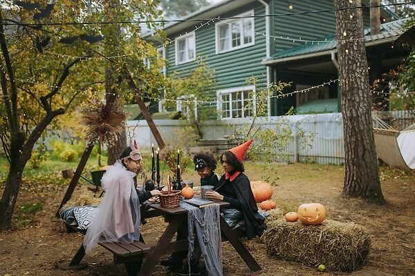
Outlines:
[[[376,115],[390,122],[405,126],[415,121],[412,112],[391,111],[376,112]],[[229,119],[223,121],[203,122],[203,139],[221,139],[232,135],[234,129],[250,124],[251,119]],[[160,135],[167,144],[189,148],[194,143],[194,135],[188,135],[185,126],[186,121],[181,120],[154,120]],[[294,115],[283,117],[270,117],[257,119],[256,124],[263,128],[277,129],[278,124],[292,124],[293,139],[284,152],[276,152],[288,155],[289,161],[308,161],[317,164],[342,164],[344,162],[343,125],[342,114],[317,114]],[[156,140],[145,120],[128,121],[129,137],[135,137],[143,151],[148,151],[151,144],[156,145]],[[310,138],[311,147],[303,148],[297,143],[297,128],[306,133]],[[312,138],[312,139],[311,139]]]

